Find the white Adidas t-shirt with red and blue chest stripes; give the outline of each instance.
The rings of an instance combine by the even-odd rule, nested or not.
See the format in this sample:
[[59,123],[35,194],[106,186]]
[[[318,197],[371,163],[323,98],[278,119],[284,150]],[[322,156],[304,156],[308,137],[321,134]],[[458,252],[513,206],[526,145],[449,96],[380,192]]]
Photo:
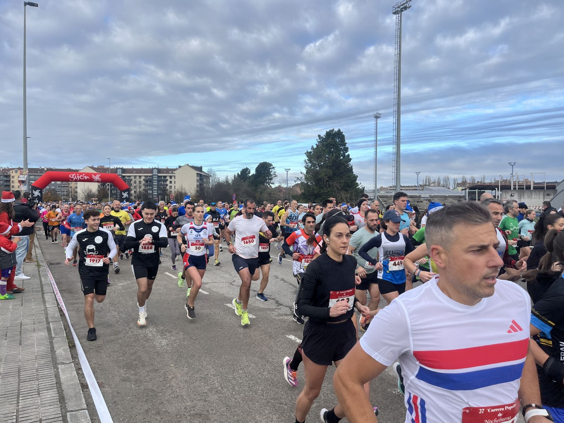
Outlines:
[[387,366],[399,358],[406,423],[510,421],[496,420],[501,416],[492,409],[503,408],[504,417],[519,412],[511,404],[528,349],[527,292],[498,279],[493,296],[466,306],[437,281],[438,275],[380,310],[360,346]]

